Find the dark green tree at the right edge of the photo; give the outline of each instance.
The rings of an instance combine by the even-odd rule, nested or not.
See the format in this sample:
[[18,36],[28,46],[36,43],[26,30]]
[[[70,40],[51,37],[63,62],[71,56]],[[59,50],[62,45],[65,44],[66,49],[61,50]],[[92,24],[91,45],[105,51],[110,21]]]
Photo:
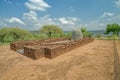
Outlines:
[[109,34],[111,33],[113,35],[117,35],[119,36],[119,32],[120,32],[120,25],[116,24],[116,23],[113,23],[113,24],[108,24],[107,27],[106,27],[106,32],[105,34]]

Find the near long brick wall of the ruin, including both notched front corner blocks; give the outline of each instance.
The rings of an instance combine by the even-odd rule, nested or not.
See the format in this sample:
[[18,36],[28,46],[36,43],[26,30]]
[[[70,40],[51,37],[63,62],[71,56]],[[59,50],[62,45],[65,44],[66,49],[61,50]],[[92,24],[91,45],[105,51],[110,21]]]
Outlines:
[[25,46],[24,54],[32,59],[38,59],[41,57],[52,59],[92,41],[93,39],[86,38],[77,41],[68,41],[66,43],[48,43],[35,46]]

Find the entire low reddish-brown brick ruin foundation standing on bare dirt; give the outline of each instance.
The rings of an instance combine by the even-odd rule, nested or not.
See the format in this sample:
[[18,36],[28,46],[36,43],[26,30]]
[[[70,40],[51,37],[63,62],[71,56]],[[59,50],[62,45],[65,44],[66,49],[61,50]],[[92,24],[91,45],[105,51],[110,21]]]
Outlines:
[[92,41],[92,38],[84,38],[80,40],[57,38],[18,41],[10,43],[10,48],[32,59],[38,59],[41,57],[52,59]]

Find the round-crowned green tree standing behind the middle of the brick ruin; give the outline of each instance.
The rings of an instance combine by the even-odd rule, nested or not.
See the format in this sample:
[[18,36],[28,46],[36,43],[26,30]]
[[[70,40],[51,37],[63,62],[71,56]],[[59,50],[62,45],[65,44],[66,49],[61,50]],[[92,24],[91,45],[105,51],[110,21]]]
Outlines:
[[63,34],[62,29],[57,25],[44,25],[40,32],[46,34],[48,38],[51,38],[53,34],[60,34],[60,36]]

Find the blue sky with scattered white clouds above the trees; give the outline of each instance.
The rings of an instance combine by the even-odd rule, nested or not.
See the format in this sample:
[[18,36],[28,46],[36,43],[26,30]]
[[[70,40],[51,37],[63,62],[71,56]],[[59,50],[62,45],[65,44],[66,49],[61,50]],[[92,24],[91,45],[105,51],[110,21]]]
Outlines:
[[120,24],[120,0],[0,0],[0,28],[105,30],[112,23]]

